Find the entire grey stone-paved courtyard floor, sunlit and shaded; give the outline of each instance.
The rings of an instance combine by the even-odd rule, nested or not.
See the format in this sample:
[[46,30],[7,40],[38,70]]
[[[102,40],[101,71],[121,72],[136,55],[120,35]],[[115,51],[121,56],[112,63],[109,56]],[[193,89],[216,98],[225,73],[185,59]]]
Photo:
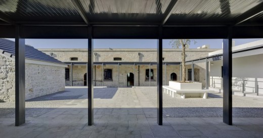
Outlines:
[[222,118],[222,94],[171,98],[163,93],[156,123],[156,87],[95,88],[94,125],[87,125],[83,87],[26,101],[26,123],[14,126],[14,103],[0,103],[0,137],[263,137],[263,99],[233,96],[233,125]]

